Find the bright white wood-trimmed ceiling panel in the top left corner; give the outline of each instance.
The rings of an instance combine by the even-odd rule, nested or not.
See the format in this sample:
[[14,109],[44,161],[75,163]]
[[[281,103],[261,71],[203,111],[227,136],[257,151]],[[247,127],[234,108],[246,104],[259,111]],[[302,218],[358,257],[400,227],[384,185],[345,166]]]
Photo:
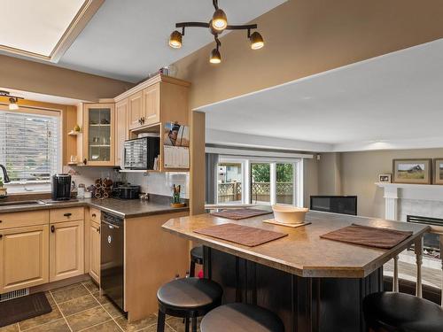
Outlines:
[[84,0],[2,0],[0,45],[49,57]]

